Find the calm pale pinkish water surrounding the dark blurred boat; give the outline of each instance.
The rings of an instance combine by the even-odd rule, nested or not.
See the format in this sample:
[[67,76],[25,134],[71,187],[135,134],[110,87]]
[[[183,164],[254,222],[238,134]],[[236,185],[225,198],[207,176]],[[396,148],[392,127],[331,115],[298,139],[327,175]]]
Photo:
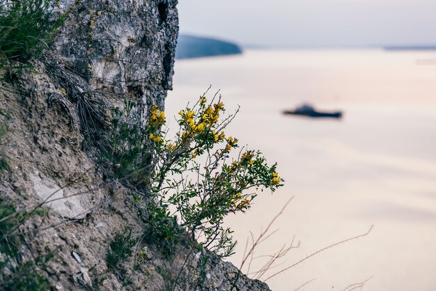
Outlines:
[[[436,290],[435,59],[436,52],[249,51],[176,63],[167,116],[212,84],[228,109],[241,106],[228,133],[279,162],[286,180],[228,219],[240,241],[235,265],[249,230],[259,233],[295,196],[256,254],[272,254],[294,235],[301,244],[270,274],[375,227],[270,279],[273,290],[314,278],[300,290],[343,290],[371,277],[364,290]],[[301,102],[345,116],[281,114]]]

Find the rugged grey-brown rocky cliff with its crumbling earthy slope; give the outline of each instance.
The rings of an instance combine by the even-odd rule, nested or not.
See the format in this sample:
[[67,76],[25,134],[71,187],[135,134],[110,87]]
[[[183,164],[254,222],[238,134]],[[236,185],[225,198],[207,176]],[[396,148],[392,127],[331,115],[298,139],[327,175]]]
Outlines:
[[[99,163],[111,109],[127,98],[139,108],[132,122],[142,123],[153,104],[164,107],[176,3],[61,0],[54,11],[67,12],[67,20],[45,54],[31,61],[32,70],[0,72],[6,77],[0,84],[0,113],[7,116],[0,141],[6,290],[269,290],[208,251],[181,243],[169,258],[147,244],[146,198]],[[6,228],[14,213],[22,215]],[[17,237],[12,261],[3,245]]]

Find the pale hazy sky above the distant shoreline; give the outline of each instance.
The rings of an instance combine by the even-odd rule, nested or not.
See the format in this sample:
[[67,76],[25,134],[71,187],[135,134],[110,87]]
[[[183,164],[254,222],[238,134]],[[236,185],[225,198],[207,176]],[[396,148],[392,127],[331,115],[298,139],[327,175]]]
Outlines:
[[436,45],[436,0],[179,0],[180,33],[260,47]]

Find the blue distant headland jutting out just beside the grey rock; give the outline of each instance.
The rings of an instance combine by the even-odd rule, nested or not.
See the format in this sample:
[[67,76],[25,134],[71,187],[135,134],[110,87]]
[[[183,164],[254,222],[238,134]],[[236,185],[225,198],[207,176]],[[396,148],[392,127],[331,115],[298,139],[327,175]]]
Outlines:
[[242,54],[242,49],[232,43],[214,38],[179,35],[176,58],[199,58],[202,56],[221,56]]

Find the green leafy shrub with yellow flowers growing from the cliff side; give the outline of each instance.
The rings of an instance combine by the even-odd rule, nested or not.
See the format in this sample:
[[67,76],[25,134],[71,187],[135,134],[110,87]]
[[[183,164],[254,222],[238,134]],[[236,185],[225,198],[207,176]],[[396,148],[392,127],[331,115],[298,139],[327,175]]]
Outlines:
[[[132,107],[127,109],[125,120],[132,112]],[[137,127],[114,123],[114,128],[132,129],[125,131],[130,136],[114,134],[114,138],[123,135],[135,141],[128,148],[129,157],[116,155],[114,163],[127,175],[140,166],[148,169],[141,172],[141,187],[153,204],[144,219],[146,237],[164,241],[169,253],[183,230],[206,249],[231,255],[236,242],[232,230],[224,228],[224,218],[249,210],[258,191],[275,191],[283,185],[276,164],[267,164],[259,151],[240,148],[238,139],[226,136],[225,129],[238,110],[224,116],[220,97],[208,102],[203,94],[193,107],[178,113],[180,129],[174,139],[166,139],[164,111],[156,106],[140,133],[132,132]],[[117,144],[126,148],[123,142]],[[136,184],[141,175],[134,175]]]

